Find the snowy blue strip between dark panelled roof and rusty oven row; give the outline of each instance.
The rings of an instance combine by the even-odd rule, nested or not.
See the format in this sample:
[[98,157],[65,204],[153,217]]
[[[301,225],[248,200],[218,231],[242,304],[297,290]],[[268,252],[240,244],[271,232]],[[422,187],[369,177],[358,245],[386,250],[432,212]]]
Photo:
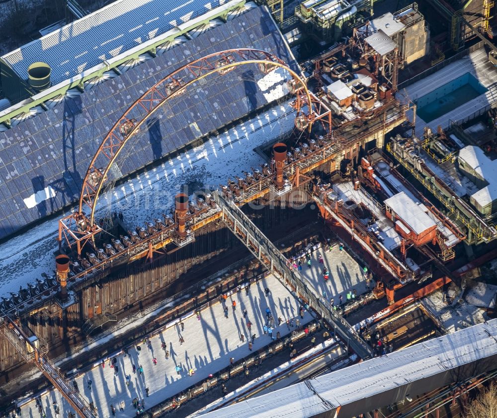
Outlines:
[[[275,106],[202,145],[183,152],[100,196],[96,217],[120,211],[130,227],[143,225],[166,212],[175,194],[188,185],[191,194],[201,188],[218,187],[227,177],[242,175],[265,162],[253,148],[292,130],[295,113],[289,102]],[[60,217],[62,217],[61,215]],[[49,219],[0,245],[0,296],[19,286],[53,275],[58,218]]]

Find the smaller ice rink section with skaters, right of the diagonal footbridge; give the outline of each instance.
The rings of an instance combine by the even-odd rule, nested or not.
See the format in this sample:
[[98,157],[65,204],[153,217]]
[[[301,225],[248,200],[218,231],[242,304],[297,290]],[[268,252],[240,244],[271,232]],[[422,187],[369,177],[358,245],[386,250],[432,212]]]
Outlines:
[[[319,262],[319,255],[323,256],[323,264]],[[329,279],[323,278],[323,267],[329,270]],[[340,251],[335,245],[331,251],[320,248],[315,250],[311,256],[311,267],[306,261],[302,261],[302,275],[311,283],[319,294],[326,292],[327,299],[334,299],[338,304],[338,298],[343,296],[343,303],[347,300],[347,292],[355,289],[357,295],[366,292],[366,281],[362,269],[345,250]],[[374,286],[374,282],[370,284]]]

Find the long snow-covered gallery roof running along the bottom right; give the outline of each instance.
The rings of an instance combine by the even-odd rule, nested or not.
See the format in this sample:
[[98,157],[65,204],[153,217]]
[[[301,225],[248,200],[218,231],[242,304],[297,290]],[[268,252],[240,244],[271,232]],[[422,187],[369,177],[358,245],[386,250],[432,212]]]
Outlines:
[[[406,391],[421,379],[445,384],[450,370],[479,360],[482,368],[492,367],[497,355],[497,319],[436,337],[423,343],[375,357],[323,376],[288,386],[266,395],[202,415],[228,417],[313,417],[339,406],[357,410],[382,406],[378,394],[391,391],[393,402],[406,397]],[[487,361],[484,361],[487,360]]]

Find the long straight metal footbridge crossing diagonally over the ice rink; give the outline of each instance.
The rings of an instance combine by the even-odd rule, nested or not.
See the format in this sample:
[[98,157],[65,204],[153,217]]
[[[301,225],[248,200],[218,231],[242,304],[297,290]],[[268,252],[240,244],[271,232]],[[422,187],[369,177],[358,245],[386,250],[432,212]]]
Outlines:
[[228,228],[247,246],[248,250],[273,274],[288,290],[301,298],[323,320],[334,329],[339,337],[362,359],[372,356],[371,348],[357,332],[334,310],[328,301],[318,294],[311,284],[294,269],[269,239],[252,223],[247,215],[233,201],[226,200],[218,192],[214,199],[222,210],[222,220]]

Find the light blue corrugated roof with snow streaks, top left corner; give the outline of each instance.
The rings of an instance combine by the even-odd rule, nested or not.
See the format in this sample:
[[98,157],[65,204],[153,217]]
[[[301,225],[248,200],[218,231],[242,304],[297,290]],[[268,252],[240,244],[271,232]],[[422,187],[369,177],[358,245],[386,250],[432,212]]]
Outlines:
[[52,84],[80,74],[228,0],[118,0],[30,42],[1,59],[22,79],[43,61]]

